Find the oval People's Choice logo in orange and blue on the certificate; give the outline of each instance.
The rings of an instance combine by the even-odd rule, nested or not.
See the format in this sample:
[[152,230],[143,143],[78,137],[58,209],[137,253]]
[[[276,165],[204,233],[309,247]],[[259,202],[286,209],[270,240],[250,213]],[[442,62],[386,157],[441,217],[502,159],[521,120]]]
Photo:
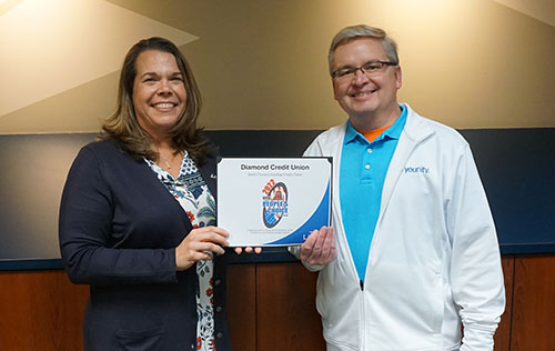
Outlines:
[[282,218],[287,217],[287,187],[273,179],[262,189],[262,220],[266,228],[274,228]]

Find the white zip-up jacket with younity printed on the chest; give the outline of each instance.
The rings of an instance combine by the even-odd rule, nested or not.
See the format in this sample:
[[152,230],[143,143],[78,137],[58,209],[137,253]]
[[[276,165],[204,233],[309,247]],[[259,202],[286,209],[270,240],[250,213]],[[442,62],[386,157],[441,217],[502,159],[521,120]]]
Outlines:
[[[468,143],[416,114],[391,160],[362,287],[345,238],[340,164],[346,124],[304,156],[333,157],[337,258],[320,270],[316,307],[329,351],[493,350],[505,307],[494,222]],[[462,339],[462,328],[464,339]]]

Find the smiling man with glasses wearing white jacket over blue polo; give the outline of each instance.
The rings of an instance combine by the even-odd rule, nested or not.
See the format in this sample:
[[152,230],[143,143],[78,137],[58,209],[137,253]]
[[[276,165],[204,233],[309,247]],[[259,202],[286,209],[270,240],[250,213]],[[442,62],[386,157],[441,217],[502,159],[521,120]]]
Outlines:
[[300,250],[320,270],[327,350],[493,350],[503,273],[467,142],[397,102],[396,44],[383,30],[344,28],[329,61],[349,120],[305,156],[333,157],[333,230]]

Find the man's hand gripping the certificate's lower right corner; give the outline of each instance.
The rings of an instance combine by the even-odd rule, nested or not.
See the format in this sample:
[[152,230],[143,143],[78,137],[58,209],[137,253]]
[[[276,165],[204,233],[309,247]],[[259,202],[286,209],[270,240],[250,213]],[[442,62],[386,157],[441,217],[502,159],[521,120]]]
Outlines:
[[335,260],[335,232],[331,227],[314,230],[301,245],[300,259],[311,265],[323,265]]

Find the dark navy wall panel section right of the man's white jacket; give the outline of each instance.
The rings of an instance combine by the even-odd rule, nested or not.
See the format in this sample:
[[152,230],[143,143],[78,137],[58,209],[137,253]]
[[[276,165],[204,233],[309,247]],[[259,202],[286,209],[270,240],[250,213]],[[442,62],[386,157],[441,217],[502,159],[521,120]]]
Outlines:
[[555,128],[463,130],[503,253],[555,252]]

